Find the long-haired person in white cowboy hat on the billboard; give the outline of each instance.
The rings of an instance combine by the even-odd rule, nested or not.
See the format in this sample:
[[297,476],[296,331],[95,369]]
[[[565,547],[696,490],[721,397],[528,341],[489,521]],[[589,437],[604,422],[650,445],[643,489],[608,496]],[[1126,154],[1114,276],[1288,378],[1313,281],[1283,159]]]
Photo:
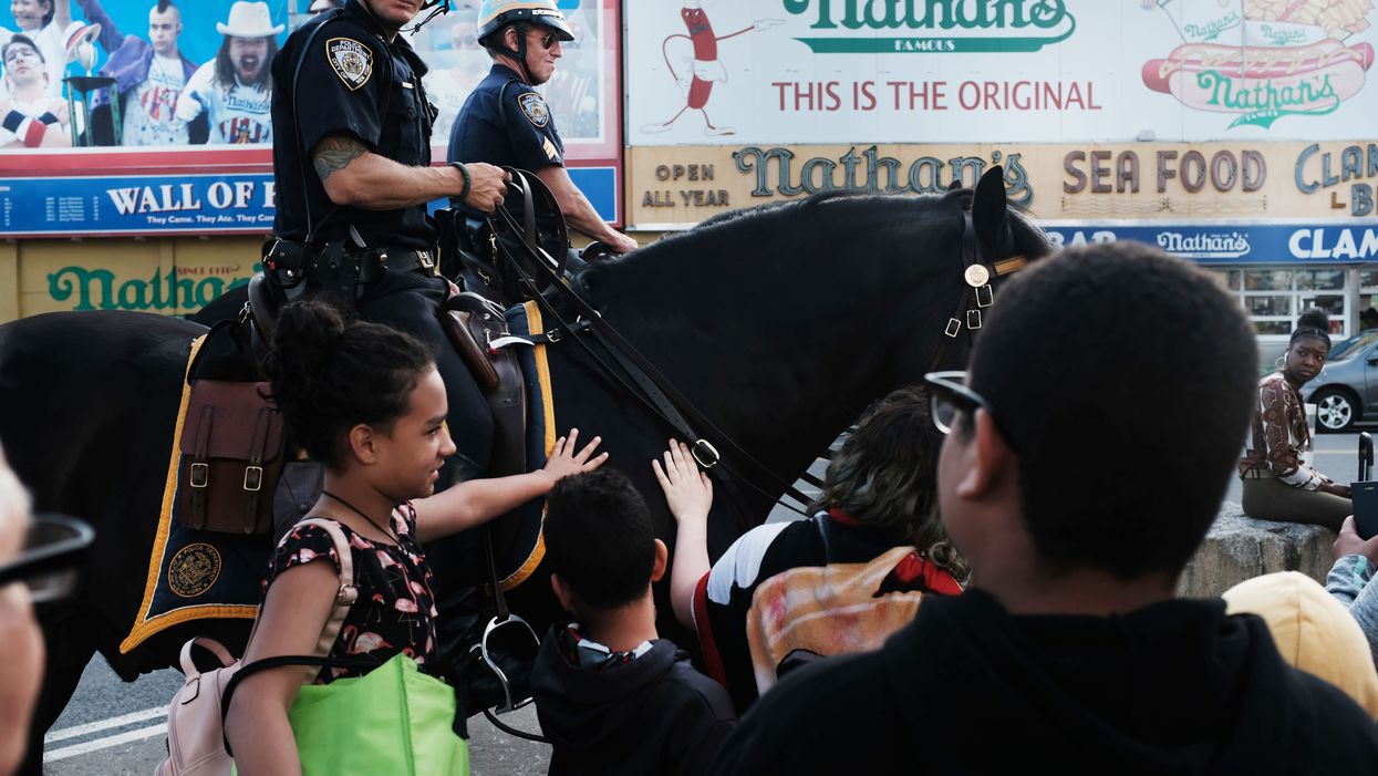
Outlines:
[[240,0],[230,7],[229,23],[215,25],[225,36],[215,59],[201,65],[176,101],[176,117],[209,120],[208,143],[273,142],[273,84],[269,63],[277,54],[267,3]]

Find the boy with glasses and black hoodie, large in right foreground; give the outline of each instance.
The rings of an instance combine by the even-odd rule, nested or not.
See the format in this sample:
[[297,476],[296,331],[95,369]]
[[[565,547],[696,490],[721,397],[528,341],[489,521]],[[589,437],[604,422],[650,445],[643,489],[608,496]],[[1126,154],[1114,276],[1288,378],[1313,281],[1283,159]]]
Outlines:
[[927,378],[971,587],[879,652],[785,678],[715,772],[1372,769],[1372,719],[1284,663],[1264,620],[1173,597],[1255,375],[1239,305],[1158,248],[1069,249],[1011,280],[966,379]]

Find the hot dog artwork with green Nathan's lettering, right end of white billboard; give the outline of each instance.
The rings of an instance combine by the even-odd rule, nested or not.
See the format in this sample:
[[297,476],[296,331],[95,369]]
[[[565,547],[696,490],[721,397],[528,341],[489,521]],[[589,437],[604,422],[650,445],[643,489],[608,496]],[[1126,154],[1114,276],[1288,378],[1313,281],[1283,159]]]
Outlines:
[[[1188,108],[1233,113],[1229,128],[1272,127],[1284,116],[1324,116],[1359,94],[1374,62],[1367,43],[1341,39],[1368,26],[1371,3],[1246,3],[1239,44],[1206,43],[1229,17],[1197,25],[1173,23],[1195,40],[1163,59],[1144,63],[1144,84]],[[1163,6],[1156,10],[1171,15]],[[1299,23],[1304,21],[1306,23]]]

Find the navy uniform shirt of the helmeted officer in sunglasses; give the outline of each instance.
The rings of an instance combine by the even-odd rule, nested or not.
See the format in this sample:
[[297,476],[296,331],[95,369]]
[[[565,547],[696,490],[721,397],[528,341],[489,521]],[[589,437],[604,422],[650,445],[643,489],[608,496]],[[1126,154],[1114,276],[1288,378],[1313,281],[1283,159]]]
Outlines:
[[565,165],[555,119],[540,94],[506,65],[493,65],[469,95],[449,135],[449,161],[486,161],[539,171]]

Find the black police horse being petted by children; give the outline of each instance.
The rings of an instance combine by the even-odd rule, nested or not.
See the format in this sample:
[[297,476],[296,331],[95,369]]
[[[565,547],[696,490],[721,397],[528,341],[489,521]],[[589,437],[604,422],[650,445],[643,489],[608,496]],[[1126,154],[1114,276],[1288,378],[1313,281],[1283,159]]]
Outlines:
[[[1050,251],[1042,232],[1006,205],[996,168],[976,192],[820,194],[715,219],[597,265],[583,287],[718,429],[763,470],[794,480],[868,402],[965,360],[967,332],[949,339],[944,329],[970,291],[962,252],[969,223],[987,259]],[[0,440],[37,509],[80,515],[98,532],[81,590],[40,612],[48,671],[33,746],[95,652],[132,681],[175,664],[189,635],[232,644],[247,635],[247,620],[197,620],[119,652],[142,601],[187,342],[204,331],[119,312],[0,327]],[[671,429],[576,345],[547,350],[558,427],[602,434],[609,464],[633,477],[657,535],[672,542],[674,521],[649,463]],[[755,488],[719,489],[712,557],[765,520],[784,491],[754,466],[736,469]],[[441,547],[434,557],[445,557]],[[543,578],[515,597],[528,600],[515,604],[522,613],[524,605],[553,601]]]

